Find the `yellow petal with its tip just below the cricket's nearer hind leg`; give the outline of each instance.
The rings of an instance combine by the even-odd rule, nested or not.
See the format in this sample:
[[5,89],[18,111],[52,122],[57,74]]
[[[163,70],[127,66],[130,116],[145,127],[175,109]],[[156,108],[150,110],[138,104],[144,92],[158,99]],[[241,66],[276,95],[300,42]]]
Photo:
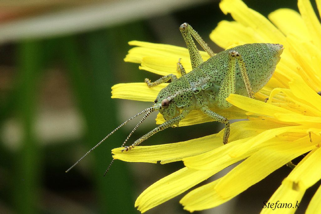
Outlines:
[[287,109],[273,106],[271,104],[244,97],[238,94],[230,94],[230,96],[226,98],[226,100],[236,107],[256,114],[274,116],[275,113],[293,113],[292,111],[289,111]]

